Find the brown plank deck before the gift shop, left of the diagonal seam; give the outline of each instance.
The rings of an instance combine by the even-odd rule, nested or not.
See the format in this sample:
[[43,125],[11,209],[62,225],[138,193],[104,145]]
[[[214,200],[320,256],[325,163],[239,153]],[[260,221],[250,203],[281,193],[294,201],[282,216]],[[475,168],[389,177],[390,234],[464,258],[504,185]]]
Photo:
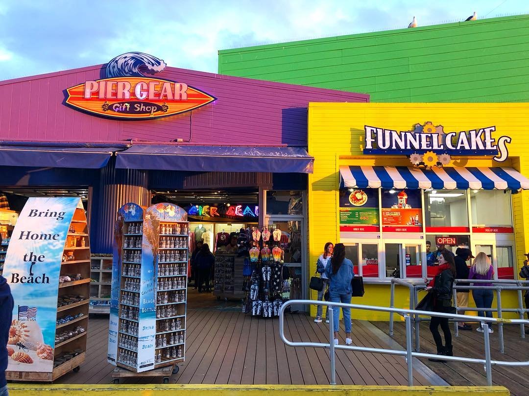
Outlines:
[[[278,319],[252,318],[237,303],[216,301],[209,294],[189,289],[186,361],[170,383],[182,384],[329,384],[329,353],[321,348],[292,348],[279,338]],[[207,301],[209,300],[209,303]],[[316,324],[305,314],[287,314],[286,334],[291,340],[326,342],[328,325]],[[114,366],[106,362],[108,317],[90,318],[86,362],[78,373],[68,373],[56,383],[107,384]],[[377,330],[378,331],[378,330]],[[388,347],[369,328],[353,321],[353,343]],[[340,343],[345,343],[343,338]],[[403,357],[336,352],[339,384],[406,385]],[[414,372],[416,385],[430,385],[427,376]],[[125,383],[159,383],[161,378],[125,379]]]

